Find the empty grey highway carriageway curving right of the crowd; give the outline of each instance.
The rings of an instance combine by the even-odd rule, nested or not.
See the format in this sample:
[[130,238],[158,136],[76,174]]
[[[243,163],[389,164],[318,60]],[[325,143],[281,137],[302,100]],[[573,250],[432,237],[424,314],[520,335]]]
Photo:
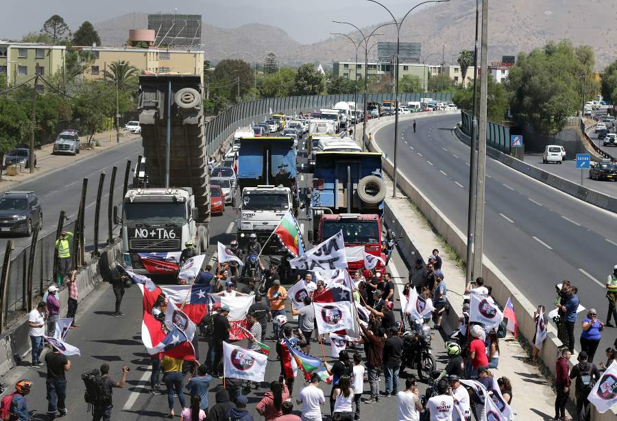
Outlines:
[[[416,133],[411,120],[402,121],[398,165],[467,232],[470,149],[452,134],[459,119],[458,115],[418,119]],[[391,158],[393,138],[394,125],[374,133]],[[605,280],[617,263],[617,215],[488,158],[484,235],[485,255],[531,302],[552,308],[555,284],[568,279],[579,288],[581,304],[594,307],[605,320]],[[577,347],[580,332],[577,324]],[[598,350],[612,345],[616,333],[617,329],[605,330]]]

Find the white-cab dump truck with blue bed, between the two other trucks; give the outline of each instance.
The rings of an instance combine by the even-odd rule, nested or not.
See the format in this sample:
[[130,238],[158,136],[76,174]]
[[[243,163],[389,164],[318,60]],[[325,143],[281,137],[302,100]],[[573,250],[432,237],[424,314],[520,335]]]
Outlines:
[[[267,240],[288,210],[297,213],[298,182],[293,139],[261,136],[240,140],[238,190],[240,194],[237,234],[241,248],[256,234],[259,243]],[[269,241],[265,250],[278,248]]]

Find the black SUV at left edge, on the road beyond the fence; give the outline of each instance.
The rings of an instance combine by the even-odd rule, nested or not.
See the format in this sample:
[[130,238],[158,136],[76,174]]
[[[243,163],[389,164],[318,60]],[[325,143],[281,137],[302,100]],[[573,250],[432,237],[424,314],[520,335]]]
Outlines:
[[43,228],[43,210],[32,191],[5,191],[0,197],[0,234],[32,234]]

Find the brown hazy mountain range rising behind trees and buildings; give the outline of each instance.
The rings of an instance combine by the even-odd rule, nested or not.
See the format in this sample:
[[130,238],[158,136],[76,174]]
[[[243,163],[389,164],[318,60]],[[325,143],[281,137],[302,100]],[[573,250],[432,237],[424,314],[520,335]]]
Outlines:
[[[446,63],[455,62],[459,51],[473,49],[475,12],[475,0],[451,0],[424,8],[407,16],[400,29],[400,40],[421,43],[422,59],[428,58],[427,62],[438,63],[442,58]],[[617,37],[612,35],[615,21],[617,0],[585,3],[574,0],[492,1],[488,22],[489,62],[542,47],[550,40],[570,39],[574,45],[591,45],[596,55],[596,69],[603,69],[617,58]],[[364,34],[370,34],[382,24],[361,29]],[[140,12],[95,23],[104,45],[123,45],[128,38],[128,29],[144,27],[147,27],[147,14]],[[348,32],[347,29],[347,25],[332,24],[332,32],[343,32],[356,40],[361,39],[358,32]],[[377,33],[383,35],[372,38],[370,46],[376,40],[396,40],[394,25],[378,29]],[[355,58],[355,48],[343,36],[301,44],[282,29],[267,23],[231,29],[204,24],[202,44],[206,58],[213,62],[236,51],[248,51],[258,58],[258,62],[263,62],[266,51],[274,51],[284,64],[312,62],[321,63],[326,68],[334,60]],[[369,60],[374,60],[375,50],[369,53]],[[254,60],[245,53],[234,53],[232,57]],[[362,48],[359,60],[364,60]]]

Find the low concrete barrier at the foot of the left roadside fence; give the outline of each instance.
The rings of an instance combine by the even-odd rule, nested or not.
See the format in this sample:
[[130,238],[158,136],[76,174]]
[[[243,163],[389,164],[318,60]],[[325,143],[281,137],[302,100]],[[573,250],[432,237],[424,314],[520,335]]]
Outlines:
[[[117,261],[121,258],[122,243],[117,240],[112,245],[108,245],[101,253],[107,253],[110,261]],[[77,287],[79,288],[79,302],[82,302],[97,285],[103,282],[99,272],[99,259],[93,258],[90,264],[77,274]],[[66,314],[66,302],[69,300],[69,293],[66,288],[60,291],[61,317]],[[36,306],[36,302],[34,305]],[[30,352],[30,339],[28,336],[27,315],[21,317],[17,322],[8,328],[0,336],[0,376],[8,370],[14,368],[21,359]]]

